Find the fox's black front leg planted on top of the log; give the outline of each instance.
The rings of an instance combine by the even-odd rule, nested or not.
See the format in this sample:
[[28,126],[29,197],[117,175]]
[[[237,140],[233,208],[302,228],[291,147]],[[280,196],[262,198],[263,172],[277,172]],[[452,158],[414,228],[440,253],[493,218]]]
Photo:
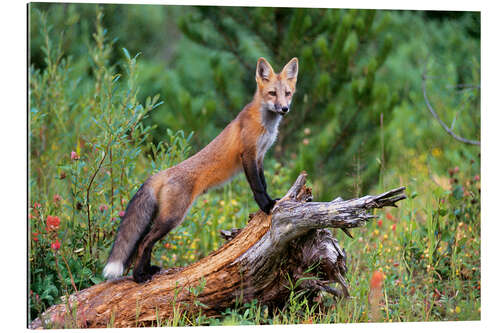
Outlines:
[[259,172],[255,154],[251,152],[243,153],[241,160],[245,176],[250,184],[255,201],[263,212],[269,214],[276,201],[271,199],[269,194],[267,194],[263,172]]

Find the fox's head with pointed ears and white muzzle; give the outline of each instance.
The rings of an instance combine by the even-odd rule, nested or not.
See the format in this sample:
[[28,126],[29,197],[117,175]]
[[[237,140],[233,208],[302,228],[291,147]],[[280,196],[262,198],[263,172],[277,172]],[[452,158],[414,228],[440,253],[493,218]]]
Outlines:
[[286,114],[290,110],[292,96],[295,93],[298,73],[299,59],[297,58],[290,60],[278,74],[274,73],[266,59],[259,58],[255,80],[262,106],[271,112]]

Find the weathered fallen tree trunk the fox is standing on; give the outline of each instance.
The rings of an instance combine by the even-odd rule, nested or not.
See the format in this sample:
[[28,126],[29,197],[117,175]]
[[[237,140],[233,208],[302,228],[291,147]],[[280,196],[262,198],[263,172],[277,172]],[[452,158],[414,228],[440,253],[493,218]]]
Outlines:
[[79,291],[49,308],[31,328],[149,326],[181,311],[215,315],[237,300],[279,306],[288,298],[289,279],[306,275],[317,279],[306,279],[301,288],[347,296],[346,254],[325,228],[364,225],[375,217],[373,208],[404,199],[404,187],[359,199],[310,202],[305,178],[305,173],[297,178],[271,215],[258,212],[244,229],[223,232],[231,240],[206,258],[164,270],[144,284],[123,277]]

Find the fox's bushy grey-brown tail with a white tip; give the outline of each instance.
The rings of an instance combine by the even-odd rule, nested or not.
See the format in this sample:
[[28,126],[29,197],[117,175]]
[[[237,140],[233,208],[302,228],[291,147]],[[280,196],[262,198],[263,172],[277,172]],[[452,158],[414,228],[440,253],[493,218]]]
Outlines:
[[157,202],[153,189],[146,182],[130,200],[125,210],[125,216],[118,227],[115,242],[103,270],[103,276],[106,279],[121,276],[128,267],[138,242],[154,217],[156,208]]

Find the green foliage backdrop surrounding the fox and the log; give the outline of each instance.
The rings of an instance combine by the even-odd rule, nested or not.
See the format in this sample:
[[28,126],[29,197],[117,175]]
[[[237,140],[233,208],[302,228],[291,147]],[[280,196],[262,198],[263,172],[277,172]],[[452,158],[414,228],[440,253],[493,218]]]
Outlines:
[[[302,170],[317,200],[408,186],[412,197],[391,215],[397,234],[385,218],[388,238],[371,225],[360,232],[371,236],[345,240],[353,257],[378,249],[354,261],[351,281],[383,269],[388,288],[422,287],[411,295],[422,310],[397,308],[401,293],[388,289],[394,303],[386,304],[387,321],[478,318],[479,256],[466,253],[480,247],[480,149],[454,140],[432,118],[422,73],[426,67],[442,119],[480,140],[479,13],[34,3],[29,14],[33,318],[72,288],[101,281],[128,199],[151,173],[206,145],[251,100],[260,56],[275,70],[294,56],[300,61],[294,105],[266,158],[271,195],[282,195]],[[219,230],[241,227],[256,209],[239,176],[198,200],[154,260],[171,266],[199,259],[220,246]],[[49,215],[60,217],[57,231],[45,230]],[[458,247],[467,227],[469,242]],[[434,269],[420,267],[429,248]],[[403,271],[391,266],[398,257]],[[449,298],[465,288],[458,281],[469,289]],[[367,288],[355,289],[358,301]],[[433,289],[448,297],[440,304],[466,311],[429,310],[425,295]],[[317,322],[369,319],[363,305],[354,311],[350,304]],[[306,320],[291,309],[268,323]],[[222,323],[244,323],[240,310],[229,309]],[[185,320],[176,324],[194,324]]]

